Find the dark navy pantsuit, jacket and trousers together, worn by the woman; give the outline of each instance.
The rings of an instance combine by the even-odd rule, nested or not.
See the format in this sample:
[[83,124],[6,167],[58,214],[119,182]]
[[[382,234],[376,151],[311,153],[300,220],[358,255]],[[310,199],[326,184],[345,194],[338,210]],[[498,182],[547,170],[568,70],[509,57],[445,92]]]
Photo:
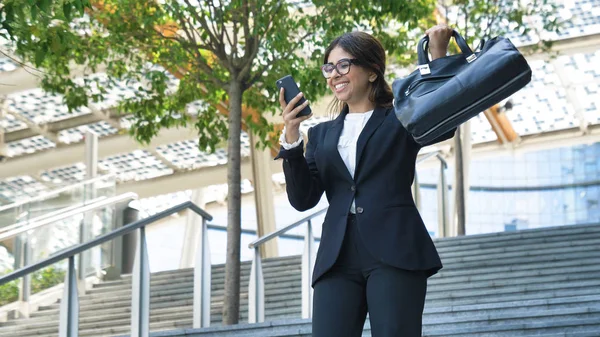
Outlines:
[[420,336],[427,277],[442,268],[412,197],[421,146],[391,108],[376,108],[358,138],[353,179],[338,152],[346,114],[309,129],[305,156],[302,146],[277,156],[295,209],[314,207],[323,192],[329,201],[312,278],[313,336],[360,336],[367,311],[374,337]]

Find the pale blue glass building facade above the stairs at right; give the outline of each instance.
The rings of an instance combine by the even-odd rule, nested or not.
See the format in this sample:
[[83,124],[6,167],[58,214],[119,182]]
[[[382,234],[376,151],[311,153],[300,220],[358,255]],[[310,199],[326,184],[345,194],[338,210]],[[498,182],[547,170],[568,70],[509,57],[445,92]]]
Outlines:
[[[439,171],[418,174],[421,214],[436,236]],[[467,235],[600,223],[600,143],[475,159],[469,183]]]

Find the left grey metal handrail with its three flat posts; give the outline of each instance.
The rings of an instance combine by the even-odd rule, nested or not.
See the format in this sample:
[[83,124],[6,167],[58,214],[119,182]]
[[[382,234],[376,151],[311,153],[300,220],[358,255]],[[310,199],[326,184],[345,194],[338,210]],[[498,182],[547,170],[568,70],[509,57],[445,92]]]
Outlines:
[[55,256],[0,277],[0,285],[29,275],[64,259],[68,259],[69,267],[65,276],[64,295],[60,308],[59,336],[76,337],[78,335],[79,295],[75,272],[75,255],[81,254],[91,248],[139,229],[139,241],[135,255],[134,272],[132,275],[131,336],[146,337],[149,335],[150,326],[150,269],[145,227],[185,209],[190,209],[203,218],[201,237],[200,240],[198,240],[198,255],[196,256],[196,264],[194,267],[193,325],[194,328],[208,326],[210,324],[211,265],[208,250],[208,235],[206,233],[206,221],[212,220],[213,217],[191,201],[181,203],[148,218],[125,225],[89,242],[79,244],[58,253]]

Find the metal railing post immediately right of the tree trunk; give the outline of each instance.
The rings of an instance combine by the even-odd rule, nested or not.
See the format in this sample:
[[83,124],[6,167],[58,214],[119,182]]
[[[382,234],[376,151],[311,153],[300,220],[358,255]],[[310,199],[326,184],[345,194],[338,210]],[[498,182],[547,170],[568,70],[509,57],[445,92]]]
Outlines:
[[250,282],[248,284],[248,323],[265,321],[265,281],[260,246],[254,247]]

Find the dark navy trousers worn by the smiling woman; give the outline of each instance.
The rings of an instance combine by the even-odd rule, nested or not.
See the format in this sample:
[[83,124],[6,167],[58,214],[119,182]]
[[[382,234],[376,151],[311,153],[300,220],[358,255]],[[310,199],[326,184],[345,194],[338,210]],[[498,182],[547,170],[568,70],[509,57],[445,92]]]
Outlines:
[[313,337],[360,337],[369,313],[373,337],[420,337],[427,292],[424,272],[375,260],[348,217],[335,265],[314,285]]

